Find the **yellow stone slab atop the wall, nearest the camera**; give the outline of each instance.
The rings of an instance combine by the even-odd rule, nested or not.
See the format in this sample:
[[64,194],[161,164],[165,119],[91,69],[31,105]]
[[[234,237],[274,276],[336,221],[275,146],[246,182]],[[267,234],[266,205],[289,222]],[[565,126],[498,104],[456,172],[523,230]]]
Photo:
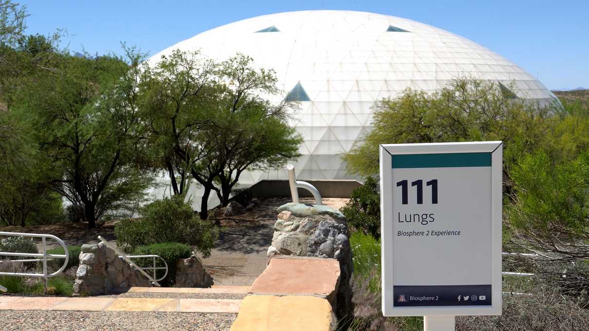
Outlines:
[[241,303],[231,331],[329,331],[335,326],[332,307],[315,296],[250,295]]

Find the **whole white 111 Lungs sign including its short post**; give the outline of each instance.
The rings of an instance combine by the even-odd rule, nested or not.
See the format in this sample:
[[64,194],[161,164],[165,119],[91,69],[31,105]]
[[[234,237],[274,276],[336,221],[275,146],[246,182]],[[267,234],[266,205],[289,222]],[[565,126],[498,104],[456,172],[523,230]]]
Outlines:
[[502,142],[380,145],[382,312],[501,315]]

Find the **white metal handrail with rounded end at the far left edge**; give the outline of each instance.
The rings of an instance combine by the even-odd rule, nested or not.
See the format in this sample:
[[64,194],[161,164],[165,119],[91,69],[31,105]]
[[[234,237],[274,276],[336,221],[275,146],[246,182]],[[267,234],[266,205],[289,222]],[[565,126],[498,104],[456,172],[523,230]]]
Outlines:
[[[2,276],[25,276],[25,277],[39,277],[45,280],[45,290],[47,290],[47,279],[49,277],[57,276],[59,273],[64,271],[65,267],[68,265],[68,260],[70,260],[70,252],[68,251],[67,245],[65,245],[64,241],[57,238],[54,235],[48,235],[47,233],[23,233],[23,232],[0,232],[0,236],[13,236],[13,237],[31,237],[31,238],[41,238],[41,253],[21,253],[21,252],[0,252],[0,256],[24,256],[29,258],[39,258],[39,259],[28,259],[28,260],[8,260],[8,262],[29,262],[29,261],[42,261],[43,262],[43,273],[27,273],[27,272],[0,272]],[[64,248],[65,254],[48,254],[47,253],[47,245],[45,243],[45,239],[51,238],[54,239]],[[64,264],[53,273],[47,273],[47,260],[48,258],[54,259],[64,259]],[[0,290],[5,292],[5,287],[0,286]]]

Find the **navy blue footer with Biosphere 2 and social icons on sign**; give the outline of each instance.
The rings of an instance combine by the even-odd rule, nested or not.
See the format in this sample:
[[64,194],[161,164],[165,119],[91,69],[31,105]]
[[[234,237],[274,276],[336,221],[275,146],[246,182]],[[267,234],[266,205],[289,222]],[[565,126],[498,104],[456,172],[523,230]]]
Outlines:
[[491,285],[393,286],[395,307],[491,306]]

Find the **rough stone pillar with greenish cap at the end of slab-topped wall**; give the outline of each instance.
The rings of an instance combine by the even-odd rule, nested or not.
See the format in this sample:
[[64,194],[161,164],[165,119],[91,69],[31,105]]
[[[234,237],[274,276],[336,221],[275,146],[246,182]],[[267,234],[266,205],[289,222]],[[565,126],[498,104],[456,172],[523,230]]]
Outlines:
[[[347,219],[325,205],[286,203],[277,209],[272,246],[267,255],[315,256],[339,262],[340,282],[336,295],[336,315],[352,313],[352,250],[348,239]],[[313,280],[310,279],[310,282]]]

